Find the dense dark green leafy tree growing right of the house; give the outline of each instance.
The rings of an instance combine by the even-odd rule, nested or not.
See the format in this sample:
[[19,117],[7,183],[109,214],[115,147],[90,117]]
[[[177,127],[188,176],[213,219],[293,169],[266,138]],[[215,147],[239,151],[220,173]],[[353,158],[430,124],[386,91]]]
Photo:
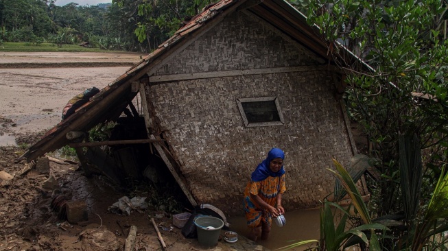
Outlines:
[[[403,213],[406,191],[400,184],[404,171],[400,160],[405,156],[399,150],[399,139],[414,134],[421,142],[419,151],[424,150],[424,169],[421,200],[413,203],[419,215],[425,215],[421,209],[429,204],[438,178],[445,175],[442,170],[448,156],[448,41],[444,40],[445,29],[440,29],[447,14],[446,2],[293,3],[300,8],[307,6],[308,21],[320,28],[329,50],[338,52],[342,43],[374,68],[372,71],[362,62],[349,64],[335,58],[347,76],[349,114],[364,125],[370,141],[368,154],[381,160],[377,166],[381,178],[371,181],[377,187],[370,207],[373,215]],[[411,172],[410,176],[418,174]],[[414,213],[408,215],[408,221],[418,219],[415,211],[409,212]],[[416,225],[407,226],[410,232]],[[389,244],[390,249],[396,248]]]

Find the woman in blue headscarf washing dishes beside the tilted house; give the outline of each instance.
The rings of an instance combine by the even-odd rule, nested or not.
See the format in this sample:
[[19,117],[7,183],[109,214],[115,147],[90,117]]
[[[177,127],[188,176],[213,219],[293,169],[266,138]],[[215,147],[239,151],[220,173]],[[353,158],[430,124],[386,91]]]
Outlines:
[[244,191],[244,211],[252,241],[257,241],[259,235],[268,239],[272,217],[285,213],[281,206],[281,194],[286,191],[284,158],[282,150],[272,148],[252,173]]

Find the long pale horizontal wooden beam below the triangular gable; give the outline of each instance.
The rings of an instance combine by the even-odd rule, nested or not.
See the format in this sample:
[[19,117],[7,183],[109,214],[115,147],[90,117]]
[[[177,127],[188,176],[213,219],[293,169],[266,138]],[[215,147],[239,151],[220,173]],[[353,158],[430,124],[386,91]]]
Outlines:
[[154,83],[154,82],[179,81],[179,80],[198,80],[202,78],[212,78],[212,77],[231,77],[231,76],[270,74],[270,73],[322,71],[322,69],[325,69],[325,66],[311,65],[302,67],[276,67],[266,69],[248,69],[248,70],[233,70],[233,71],[209,71],[201,73],[183,73],[173,75],[151,76],[150,82]]

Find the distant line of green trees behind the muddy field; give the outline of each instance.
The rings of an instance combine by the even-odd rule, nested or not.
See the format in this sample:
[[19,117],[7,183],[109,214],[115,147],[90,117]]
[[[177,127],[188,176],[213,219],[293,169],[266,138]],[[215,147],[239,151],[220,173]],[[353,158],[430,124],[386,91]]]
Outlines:
[[113,0],[98,5],[0,0],[0,42],[80,44],[108,50],[157,48],[210,0]]

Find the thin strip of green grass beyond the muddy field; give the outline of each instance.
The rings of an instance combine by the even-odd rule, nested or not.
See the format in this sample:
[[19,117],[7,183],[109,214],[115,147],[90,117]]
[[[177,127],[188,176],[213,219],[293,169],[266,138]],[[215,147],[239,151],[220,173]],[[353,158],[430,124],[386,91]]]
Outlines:
[[21,42],[4,42],[0,44],[0,51],[16,51],[16,52],[116,52],[106,51],[99,48],[87,48],[79,45],[62,45],[58,47],[54,43],[21,43]]

